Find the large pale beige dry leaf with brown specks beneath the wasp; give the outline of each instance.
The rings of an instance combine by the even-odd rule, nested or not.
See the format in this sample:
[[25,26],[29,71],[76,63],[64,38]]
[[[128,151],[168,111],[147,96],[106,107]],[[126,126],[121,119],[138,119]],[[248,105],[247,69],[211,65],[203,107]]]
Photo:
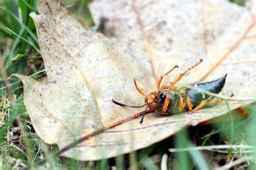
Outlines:
[[[111,101],[115,98],[132,105],[144,103],[144,97],[133,86],[133,77],[145,92],[155,88],[151,64],[132,5],[104,2],[93,3],[91,10],[96,21],[100,17],[109,19],[106,28],[117,39],[86,30],[58,1],[39,0],[39,15],[31,14],[48,81],[39,82],[19,74],[16,76],[24,84],[24,103],[38,136],[48,144],[57,144],[59,148],[141,111],[125,109]],[[172,74],[173,79],[173,75],[185,70],[199,56],[208,59],[190,76],[184,77],[183,83],[198,80],[211,62],[218,60],[217,56],[252,24],[246,9],[225,2],[204,3],[204,13],[207,13],[205,24],[202,24],[202,4],[166,5],[166,2],[142,2],[136,4],[136,8],[142,14],[148,32],[155,68],[163,64],[171,67],[176,63],[182,66]],[[224,16],[225,22],[220,22]],[[225,94],[230,91],[238,97],[252,94],[254,82],[250,77],[255,76],[253,64],[233,63],[253,57],[255,46],[252,40],[243,40],[238,49],[223,61],[226,65],[221,65],[211,75],[211,79],[215,79],[228,73]],[[234,109],[248,102],[228,103]],[[224,102],[193,113],[161,116],[154,112],[145,116],[143,124],[134,119],[92,137],[62,155],[78,160],[114,157],[154,144],[187,125],[197,125],[226,112]]]

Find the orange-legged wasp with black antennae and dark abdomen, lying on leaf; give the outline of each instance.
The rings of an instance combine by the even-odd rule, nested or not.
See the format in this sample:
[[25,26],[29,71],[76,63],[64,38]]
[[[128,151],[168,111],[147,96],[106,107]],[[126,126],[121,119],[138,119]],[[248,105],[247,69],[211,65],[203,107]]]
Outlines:
[[141,108],[146,107],[143,112],[142,119],[140,123],[143,122],[146,110],[149,108],[149,111],[157,111],[161,115],[171,115],[177,114],[184,111],[196,111],[198,109],[203,108],[206,104],[211,104],[218,102],[219,99],[213,98],[213,96],[209,96],[203,94],[200,90],[208,91],[210,93],[218,94],[221,89],[223,89],[226,76],[220,77],[217,80],[205,83],[194,84],[194,87],[197,87],[200,90],[194,90],[186,87],[178,87],[176,83],[183,77],[190,73],[190,70],[194,67],[198,66],[203,59],[200,59],[196,64],[189,67],[185,72],[179,74],[173,82],[169,84],[164,84],[161,86],[161,82],[163,77],[172,72],[173,69],[178,68],[175,65],[172,69],[170,69],[165,74],[161,75],[158,80],[157,89],[150,91],[147,95],[143,93],[142,90],[137,86],[136,80],[134,80],[134,86],[137,91],[145,96],[145,104],[140,106],[131,106],[123,103],[119,103],[117,101],[112,100],[115,104],[120,105],[122,107],[131,107],[131,108]]

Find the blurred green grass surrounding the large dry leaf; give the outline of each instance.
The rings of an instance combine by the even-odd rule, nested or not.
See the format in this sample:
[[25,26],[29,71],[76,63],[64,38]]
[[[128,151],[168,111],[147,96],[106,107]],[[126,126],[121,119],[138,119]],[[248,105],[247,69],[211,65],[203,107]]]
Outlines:
[[[92,26],[88,3],[67,1],[65,5],[80,22]],[[30,75],[38,80],[46,79],[35,25],[29,17],[30,12],[37,12],[36,1],[10,0],[0,5],[0,169],[15,169],[41,160],[57,151],[58,147],[45,144],[37,136],[24,107],[22,84],[13,77],[8,79],[14,73]],[[248,105],[245,110],[247,118],[237,118],[234,112],[230,112],[223,122],[181,130],[157,144],[116,158],[77,161],[59,157],[50,159],[42,168],[211,169],[226,166],[254,169],[256,151],[243,146],[256,147],[255,104]],[[240,149],[217,147],[230,144],[240,146]],[[198,150],[198,146],[206,148]],[[178,148],[184,149],[180,151]]]

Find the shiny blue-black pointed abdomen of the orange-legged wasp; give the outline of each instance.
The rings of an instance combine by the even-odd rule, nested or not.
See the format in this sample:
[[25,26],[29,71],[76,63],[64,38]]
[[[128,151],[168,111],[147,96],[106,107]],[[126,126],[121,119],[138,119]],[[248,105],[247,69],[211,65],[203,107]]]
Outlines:
[[[217,80],[211,81],[211,82],[206,82],[206,83],[199,83],[199,84],[194,84],[194,87],[197,87],[198,89],[204,90],[204,91],[209,91],[211,93],[218,94],[220,93],[221,89],[223,89],[225,81],[226,81],[226,76],[220,77]],[[210,96],[203,94],[200,92],[200,90],[194,90],[194,89],[188,89],[187,90],[188,95],[190,96],[191,102],[194,106],[198,105],[201,103],[203,100],[207,100]]]

